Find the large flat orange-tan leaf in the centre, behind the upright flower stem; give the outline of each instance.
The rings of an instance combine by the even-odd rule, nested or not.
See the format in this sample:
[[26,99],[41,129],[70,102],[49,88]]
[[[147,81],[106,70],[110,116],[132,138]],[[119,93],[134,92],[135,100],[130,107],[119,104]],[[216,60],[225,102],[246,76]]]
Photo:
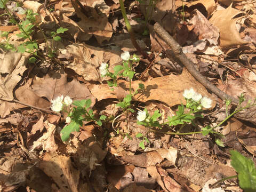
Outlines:
[[[186,69],[183,70],[181,75],[167,75],[163,77],[153,78],[150,81],[134,81],[132,82],[133,90],[138,89],[139,83],[145,85],[145,91],[139,92],[134,95],[134,99],[140,102],[146,102],[149,100],[157,100],[166,103],[169,106],[178,105],[181,102],[186,103],[183,99],[183,91],[193,87],[197,93],[201,93],[203,96],[212,98],[205,87],[198,83],[196,79],[191,76]],[[116,91],[111,91],[108,85],[90,85],[89,89],[98,101],[108,98],[124,98],[126,94],[129,94],[129,82],[123,80],[118,81],[120,87]],[[123,95],[119,94],[120,90],[123,90]],[[118,95],[118,97],[117,97]],[[214,100],[213,100],[214,101]],[[215,101],[212,107],[215,106]]]

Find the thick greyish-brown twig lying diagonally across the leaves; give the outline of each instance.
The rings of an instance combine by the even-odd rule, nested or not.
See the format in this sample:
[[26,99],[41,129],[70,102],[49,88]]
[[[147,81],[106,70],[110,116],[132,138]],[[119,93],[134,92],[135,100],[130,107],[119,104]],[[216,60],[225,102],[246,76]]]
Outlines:
[[231,99],[234,103],[238,103],[238,99],[228,95],[227,93],[219,90],[215,85],[211,84],[203,75],[201,75],[192,62],[182,52],[182,47],[171,37],[169,33],[158,22],[154,25],[156,33],[171,47],[174,56],[187,68],[189,73],[197,79],[199,83],[204,85],[207,89],[218,95],[222,100]]

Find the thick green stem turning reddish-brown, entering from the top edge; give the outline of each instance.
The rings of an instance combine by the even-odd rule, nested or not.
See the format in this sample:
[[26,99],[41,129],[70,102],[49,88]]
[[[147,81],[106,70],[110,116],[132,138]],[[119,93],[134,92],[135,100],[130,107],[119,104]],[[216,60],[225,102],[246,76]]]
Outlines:
[[132,26],[130,25],[130,22],[129,22],[129,20],[127,18],[127,15],[126,15],[126,12],[125,12],[123,0],[119,0],[119,4],[120,4],[120,8],[121,8],[121,12],[122,12],[122,15],[123,15],[123,18],[124,18],[124,22],[125,22],[126,28],[127,28],[128,32],[129,32],[129,34],[131,36],[131,40],[132,40],[133,46],[137,49],[138,52],[140,52],[143,55],[143,57],[145,57],[145,58],[150,60],[148,55],[144,51],[142,51],[140,49],[140,46],[138,45],[138,43],[137,43],[137,41],[135,39],[135,35],[134,35],[133,30],[132,30]]

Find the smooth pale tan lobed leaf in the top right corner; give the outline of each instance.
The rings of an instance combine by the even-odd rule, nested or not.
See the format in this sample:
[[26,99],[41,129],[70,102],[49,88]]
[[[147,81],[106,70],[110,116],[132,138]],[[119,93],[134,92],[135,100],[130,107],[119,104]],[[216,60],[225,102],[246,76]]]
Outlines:
[[236,22],[241,19],[235,18],[236,15],[243,13],[232,7],[232,4],[225,10],[218,10],[213,13],[210,22],[220,30],[220,46],[227,47],[245,44],[236,29]]

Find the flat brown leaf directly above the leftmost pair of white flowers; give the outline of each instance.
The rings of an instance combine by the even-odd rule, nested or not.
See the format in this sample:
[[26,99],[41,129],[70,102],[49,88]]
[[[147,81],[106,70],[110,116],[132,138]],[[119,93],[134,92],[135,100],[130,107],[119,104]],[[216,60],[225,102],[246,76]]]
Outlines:
[[68,82],[67,74],[49,72],[45,77],[36,77],[31,86],[31,90],[39,97],[46,97],[49,101],[59,95],[68,95],[71,99],[91,99],[92,105],[95,103],[94,97],[87,86],[78,82],[77,79]]

